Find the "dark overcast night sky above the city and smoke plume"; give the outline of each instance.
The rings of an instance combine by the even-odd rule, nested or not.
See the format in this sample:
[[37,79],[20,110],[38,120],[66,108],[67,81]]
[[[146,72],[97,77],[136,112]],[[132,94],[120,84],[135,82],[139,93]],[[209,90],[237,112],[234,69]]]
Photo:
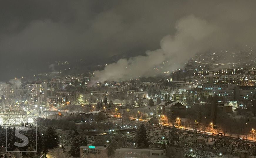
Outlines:
[[32,67],[41,70],[48,61],[159,49],[163,37],[177,35],[177,21],[191,15],[221,32],[211,35],[212,47],[255,40],[254,1],[30,0],[0,4],[0,71],[4,76],[0,80],[19,77]]

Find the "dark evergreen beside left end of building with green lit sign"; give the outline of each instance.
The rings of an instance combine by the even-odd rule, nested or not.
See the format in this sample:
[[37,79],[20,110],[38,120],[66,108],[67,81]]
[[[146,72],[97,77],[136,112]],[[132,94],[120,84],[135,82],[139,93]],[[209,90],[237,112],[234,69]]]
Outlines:
[[87,139],[84,135],[76,135],[71,143],[70,154],[74,157],[79,157],[81,146],[87,145]]

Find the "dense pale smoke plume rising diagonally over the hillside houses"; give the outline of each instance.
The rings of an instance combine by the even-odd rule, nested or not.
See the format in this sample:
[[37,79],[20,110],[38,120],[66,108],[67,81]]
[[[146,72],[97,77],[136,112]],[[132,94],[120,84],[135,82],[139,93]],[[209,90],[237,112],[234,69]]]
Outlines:
[[94,82],[160,75],[154,68],[163,61],[168,61],[165,69],[171,72],[184,66],[196,53],[212,47],[212,43],[217,40],[217,27],[193,15],[179,20],[175,28],[174,36],[167,35],[160,41],[160,49],[147,51],[146,56],[120,59],[111,63],[104,70],[94,72]]

